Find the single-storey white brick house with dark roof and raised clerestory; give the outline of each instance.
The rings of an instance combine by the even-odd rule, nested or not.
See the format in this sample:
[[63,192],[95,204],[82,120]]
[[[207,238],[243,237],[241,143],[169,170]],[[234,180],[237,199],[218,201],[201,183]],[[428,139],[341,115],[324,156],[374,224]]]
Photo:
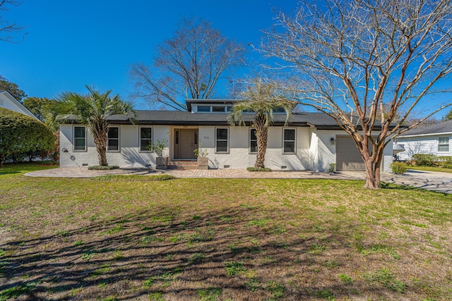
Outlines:
[[[169,161],[196,160],[194,149],[208,152],[210,168],[254,166],[257,142],[251,126],[252,114],[245,114],[249,126],[232,126],[227,114],[233,100],[187,99],[189,111],[138,111],[132,124],[125,116],[109,118],[107,161],[121,167],[155,166],[149,144],[165,141],[163,155]],[[352,138],[325,113],[294,113],[287,126],[285,114],[275,113],[268,130],[265,165],[273,170],[326,171],[337,164],[338,171],[364,171],[364,163]],[[85,125],[69,120],[60,125],[60,166],[97,165],[92,135]],[[390,171],[392,142],[386,147],[383,171]]]

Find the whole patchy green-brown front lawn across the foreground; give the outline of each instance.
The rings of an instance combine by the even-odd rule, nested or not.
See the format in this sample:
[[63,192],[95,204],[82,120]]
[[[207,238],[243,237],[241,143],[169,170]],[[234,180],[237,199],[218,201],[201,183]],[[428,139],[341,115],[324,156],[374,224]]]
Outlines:
[[5,173],[0,300],[450,300],[452,196],[362,185]]

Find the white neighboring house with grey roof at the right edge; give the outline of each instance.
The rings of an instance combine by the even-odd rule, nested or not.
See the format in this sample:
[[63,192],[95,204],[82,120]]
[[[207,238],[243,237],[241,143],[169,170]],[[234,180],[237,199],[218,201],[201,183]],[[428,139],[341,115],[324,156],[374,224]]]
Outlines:
[[452,121],[407,130],[398,137],[397,143],[403,145],[405,152],[398,154],[401,160],[410,160],[413,154],[434,154],[452,156]]

